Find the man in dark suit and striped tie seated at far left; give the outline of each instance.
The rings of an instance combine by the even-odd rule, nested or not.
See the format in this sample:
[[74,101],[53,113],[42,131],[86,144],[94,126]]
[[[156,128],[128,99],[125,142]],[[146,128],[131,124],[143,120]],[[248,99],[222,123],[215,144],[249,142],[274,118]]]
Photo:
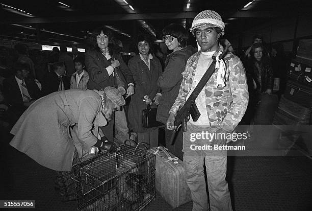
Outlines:
[[11,123],[14,124],[20,115],[41,97],[41,92],[33,80],[29,80],[30,66],[17,62],[14,67],[14,76],[3,81],[5,100],[9,105],[8,113]]

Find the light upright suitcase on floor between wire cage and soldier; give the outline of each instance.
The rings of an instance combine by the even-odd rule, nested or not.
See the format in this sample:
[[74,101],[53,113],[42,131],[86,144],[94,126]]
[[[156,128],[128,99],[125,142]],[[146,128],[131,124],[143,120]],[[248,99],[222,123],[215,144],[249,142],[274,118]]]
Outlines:
[[183,161],[168,153],[165,147],[154,147],[148,152],[156,155],[155,187],[166,202],[176,208],[191,201]]

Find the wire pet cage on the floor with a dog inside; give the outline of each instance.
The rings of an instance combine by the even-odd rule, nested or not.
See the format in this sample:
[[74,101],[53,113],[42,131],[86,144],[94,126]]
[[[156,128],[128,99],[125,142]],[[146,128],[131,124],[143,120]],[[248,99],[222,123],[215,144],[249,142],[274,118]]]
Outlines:
[[122,145],[73,166],[77,210],[142,210],[155,197],[155,156]]

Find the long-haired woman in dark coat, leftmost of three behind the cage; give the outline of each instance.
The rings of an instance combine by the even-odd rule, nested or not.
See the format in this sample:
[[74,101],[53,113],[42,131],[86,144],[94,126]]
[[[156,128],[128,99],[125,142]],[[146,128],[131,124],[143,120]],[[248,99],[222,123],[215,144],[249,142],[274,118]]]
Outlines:
[[[89,73],[88,89],[101,90],[107,86],[113,86],[118,88],[122,95],[127,92],[126,98],[133,95],[134,79],[120,53],[116,52],[113,33],[105,27],[100,27],[92,32],[87,41],[89,49],[86,52],[85,64]],[[115,115],[107,126],[101,127],[111,142],[114,141],[114,124],[115,131],[117,130],[127,139],[129,137],[124,111],[118,111]],[[123,141],[120,140],[120,142]]]

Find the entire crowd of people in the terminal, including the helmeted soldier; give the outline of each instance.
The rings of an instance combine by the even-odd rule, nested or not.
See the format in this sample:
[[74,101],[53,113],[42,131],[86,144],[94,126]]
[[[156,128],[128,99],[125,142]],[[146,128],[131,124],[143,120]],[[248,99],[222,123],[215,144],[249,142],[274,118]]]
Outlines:
[[[101,148],[106,142],[123,144],[130,132],[148,147],[159,146],[159,127],[142,124],[142,111],[149,105],[158,109],[156,120],[165,125],[166,147],[184,159],[193,210],[209,206],[232,210],[225,180],[226,150],[218,156],[190,150],[191,133],[231,133],[243,117],[245,124],[258,124],[253,114],[260,102],[269,99],[264,96],[282,92],[287,61],[280,44],[269,51],[258,35],[243,58],[231,49],[219,60],[224,51],[221,43],[228,43],[220,42],[224,28],[217,12],[204,10],[190,29],[199,51],[187,44],[187,29],[170,24],[163,29],[169,55],[153,48],[152,38],[141,34],[134,44],[138,53],[128,61],[120,54],[121,42],[105,27],[87,38],[85,54],[77,46],[68,53],[65,45],[50,54],[30,54],[24,44],[15,46],[16,54],[1,48],[0,118],[2,127],[15,135],[11,146],[57,171],[62,200],[73,200],[73,184],[68,180],[71,166],[90,148]],[[197,121],[190,118],[188,131],[176,136],[183,145],[171,146],[175,116],[215,58],[215,72],[195,101],[201,115]],[[131,99],[126,106],[125,99]],[[204,145],[205,139],[195,144]],[[212,144],[225,145],[226,139],[215,138]]]

